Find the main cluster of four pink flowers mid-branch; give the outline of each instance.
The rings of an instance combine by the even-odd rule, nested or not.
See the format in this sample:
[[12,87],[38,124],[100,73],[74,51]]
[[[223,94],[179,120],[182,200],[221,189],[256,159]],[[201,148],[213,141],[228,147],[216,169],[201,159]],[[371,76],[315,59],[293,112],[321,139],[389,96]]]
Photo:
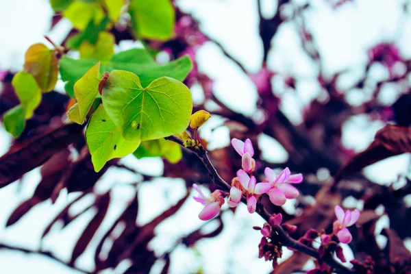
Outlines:
[[[303,175],[291,175],[290,169],[284,169],[279,175],[273,169],[264,170],[265,179],[257,182],[253,176],[256,169],[256,160],[253,159],[254,149],[250,139],[232,139],[232,146],[241,156],[242,169],[237,171],[237,177],[232,179],[232,188],[229,190],[228,206],[234,208],[241,202],[242,197],[247,199],[247,209],[250,213],[256,212],[257,201],[263,194],[269,195],[270,201],[275,206],[283,206],[287,199],[295,199],[299,192],[291,184],[299,184],[303,181]],[[212,219],[219,212],[224,204],[224,193],[216,190],[210,197],[203,195],[203,192],[195,185],[195,190],[200,197],[194,197],[196,201],[202,203],[204,209],[200,212],[201,220]],[[228,195],[228,193],[227,193]]]

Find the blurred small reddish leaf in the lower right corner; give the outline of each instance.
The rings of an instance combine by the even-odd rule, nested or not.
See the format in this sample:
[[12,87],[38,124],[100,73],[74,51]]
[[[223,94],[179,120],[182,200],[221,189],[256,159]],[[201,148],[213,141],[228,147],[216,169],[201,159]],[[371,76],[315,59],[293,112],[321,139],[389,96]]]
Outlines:
[[403,240],[399,238],[394,229],[385,228],[382,230],[381,234],[388,238],[386,249],[392,264],[395,262],[402,263],[410,260],[410,251],[404,246]]

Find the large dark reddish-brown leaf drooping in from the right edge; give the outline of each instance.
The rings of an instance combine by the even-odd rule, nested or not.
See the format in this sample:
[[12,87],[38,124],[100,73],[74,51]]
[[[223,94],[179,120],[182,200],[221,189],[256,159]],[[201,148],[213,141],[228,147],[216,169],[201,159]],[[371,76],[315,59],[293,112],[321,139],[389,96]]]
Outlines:
[[334,182],[370,164],[406,152],[411,152],[411,128],[386,125],[379,129],[375,134],[375,140],[365,151],[358,153],[338,171]]

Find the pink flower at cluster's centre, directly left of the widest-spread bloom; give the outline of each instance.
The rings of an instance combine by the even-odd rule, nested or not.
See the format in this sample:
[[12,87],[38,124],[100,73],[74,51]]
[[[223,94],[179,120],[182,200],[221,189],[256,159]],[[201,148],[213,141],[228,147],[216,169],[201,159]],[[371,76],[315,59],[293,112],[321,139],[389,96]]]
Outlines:
[[270,190],[271,185],[269,183],[256,184],[256,177],[247,174],[247,172],[240,169],[237,171],[237,177],[241,186],[247,190],[247,209],[250,213],[256,212],[257,195],[261,195]]

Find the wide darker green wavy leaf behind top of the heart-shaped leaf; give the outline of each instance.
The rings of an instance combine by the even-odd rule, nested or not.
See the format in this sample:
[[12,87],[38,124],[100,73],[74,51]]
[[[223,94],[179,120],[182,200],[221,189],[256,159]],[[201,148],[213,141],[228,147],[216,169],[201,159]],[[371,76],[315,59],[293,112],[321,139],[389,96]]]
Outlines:
[[[60,74],[66,83],[66,92],[74,97],[74,83],[80,79],[92,66],[96,64],[93,60],[75,60],[66,55],[60,60]],[[192,69],[188,56],[178,58],[168,64],[158,64],[145,49],[129,49],[112,55],[110,62],[102,63],[100,73],[121,69],[132,72],[140,78],[143,87],[148,86],[153,80],[162,76],[171,77],[183,81]]]

